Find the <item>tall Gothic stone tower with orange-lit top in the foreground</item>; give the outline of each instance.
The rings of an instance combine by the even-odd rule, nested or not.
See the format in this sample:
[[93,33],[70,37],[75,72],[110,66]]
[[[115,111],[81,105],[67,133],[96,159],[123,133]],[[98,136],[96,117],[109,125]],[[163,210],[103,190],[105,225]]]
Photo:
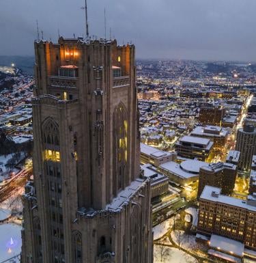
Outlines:
[[151,263],[134,46],[35,42],[33,174],[23,263]]

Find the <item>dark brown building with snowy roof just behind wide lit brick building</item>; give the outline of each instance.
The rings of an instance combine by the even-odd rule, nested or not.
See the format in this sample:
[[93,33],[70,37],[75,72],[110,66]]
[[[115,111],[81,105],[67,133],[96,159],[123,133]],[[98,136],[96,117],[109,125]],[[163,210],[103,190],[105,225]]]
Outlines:
[[221,187],[223,194],[233,192],[236,182],[237,166],[232,163],[210,163],[200,168],[197,198],[200,197],[205,185]]

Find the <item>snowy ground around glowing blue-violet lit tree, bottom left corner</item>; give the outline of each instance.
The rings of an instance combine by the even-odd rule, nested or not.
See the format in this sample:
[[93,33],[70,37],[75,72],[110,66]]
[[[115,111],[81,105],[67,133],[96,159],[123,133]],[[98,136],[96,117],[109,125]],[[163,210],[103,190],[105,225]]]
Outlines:
[[0,262],[8,260],[21,252],[20,230],[21,227],[13,223],[0,225]]

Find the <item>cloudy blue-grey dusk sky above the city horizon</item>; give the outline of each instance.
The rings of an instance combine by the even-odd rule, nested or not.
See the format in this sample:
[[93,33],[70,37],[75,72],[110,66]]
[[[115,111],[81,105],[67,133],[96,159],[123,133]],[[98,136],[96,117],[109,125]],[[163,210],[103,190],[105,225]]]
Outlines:
[[[89,33],[109,28],[137,58],[256,61],[255,0],[87,0]],[[83,35],[83,0],[0,0],[0,55],[33,55],[36,19],[45,39]],[[41,37],[41,33],[40,33]]]

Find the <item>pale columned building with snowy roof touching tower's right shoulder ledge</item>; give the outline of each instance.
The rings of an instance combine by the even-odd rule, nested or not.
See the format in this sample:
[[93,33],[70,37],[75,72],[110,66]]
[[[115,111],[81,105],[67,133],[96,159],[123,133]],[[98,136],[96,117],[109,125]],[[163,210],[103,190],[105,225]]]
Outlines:
[[149,163],[141,165],[143,177],[150,178],[151,198],[163,195],[168,192],[169,178],[163,174],[159,174],[156,167]]

